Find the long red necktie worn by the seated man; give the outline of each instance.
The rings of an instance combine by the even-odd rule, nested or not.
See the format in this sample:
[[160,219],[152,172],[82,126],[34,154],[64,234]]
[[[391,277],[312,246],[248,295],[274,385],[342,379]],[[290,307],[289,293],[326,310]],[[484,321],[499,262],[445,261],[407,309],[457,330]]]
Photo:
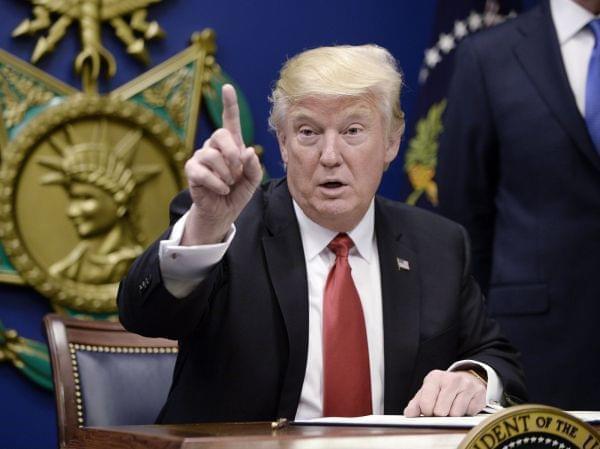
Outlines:
[[323,416],[371,414],[367,332],[348,264],[353,246],[346,234],[328,245],[336,258],[323,295]]

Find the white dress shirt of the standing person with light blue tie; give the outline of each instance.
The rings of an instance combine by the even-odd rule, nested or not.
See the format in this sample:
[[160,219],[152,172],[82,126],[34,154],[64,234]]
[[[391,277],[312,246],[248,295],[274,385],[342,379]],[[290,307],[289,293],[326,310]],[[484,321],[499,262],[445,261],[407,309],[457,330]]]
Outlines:
[[600,16],[595,16],[572,0],[550,0],[550,11],[569,84],[577,108],[585,117],[585,86],[594,48],[594,33],[587,28],[587,24]]

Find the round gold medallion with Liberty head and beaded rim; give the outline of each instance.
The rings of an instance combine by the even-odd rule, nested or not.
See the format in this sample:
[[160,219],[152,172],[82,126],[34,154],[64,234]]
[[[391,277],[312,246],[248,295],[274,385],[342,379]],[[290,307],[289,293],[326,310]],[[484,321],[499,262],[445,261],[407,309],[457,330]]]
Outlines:
[[58,306],[112,312],[119,279],[167,225],[186,151],[148,109],[77,95],[35,117],[2,166],[0,237]]

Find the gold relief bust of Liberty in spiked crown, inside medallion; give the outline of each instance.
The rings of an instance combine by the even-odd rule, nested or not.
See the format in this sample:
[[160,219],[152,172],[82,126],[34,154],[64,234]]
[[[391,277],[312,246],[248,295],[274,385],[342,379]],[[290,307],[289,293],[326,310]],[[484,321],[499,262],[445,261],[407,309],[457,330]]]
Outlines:
[[51,138],[59,157],[39,159],[53,170],[42,183],[64,187],[68,195],[66,215],[80,239],[48,271],[76,282],[109,284],[118,282],[143,250],[128,211],[135,189],[159,169],[132,167],[141,131],[128,132],[112,147],[105,132],[96,130],[93,134],[94,140],[76,143],[77,136],[67,129],[66,142]]

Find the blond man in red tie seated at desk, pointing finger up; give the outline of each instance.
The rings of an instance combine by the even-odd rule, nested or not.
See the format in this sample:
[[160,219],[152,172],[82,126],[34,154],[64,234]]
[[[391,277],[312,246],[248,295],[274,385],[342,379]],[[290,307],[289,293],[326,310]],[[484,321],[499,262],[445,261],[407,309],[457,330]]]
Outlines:
[[373,45],[290,59],[270,118],[287,178],[258,189],[223,88],[223,128],[187,162],[173,228],[119,292],[128,329],[179,340],[160,422],[458,416],[525,395],[464,230],[375,198],[404,130],[401,84]]

